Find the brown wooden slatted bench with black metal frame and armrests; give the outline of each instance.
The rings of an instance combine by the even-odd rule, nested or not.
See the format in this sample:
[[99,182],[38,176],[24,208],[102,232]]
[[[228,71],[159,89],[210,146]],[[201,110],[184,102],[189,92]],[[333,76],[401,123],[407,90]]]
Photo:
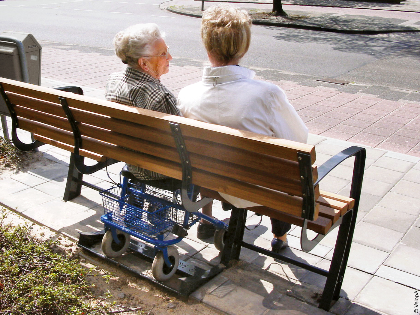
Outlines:
[[[215,199],[223,200],[217,192],[224,192],[256,202],[262,206],[250,208],[252,211],[302,227],[304,251],[310,251],[323,236],[340,226],[331,267],[323,270],[244,242],[247,210],[234,207],[221,255],[222,266],[227,266],[230,260],[239,259],[241,247],[246,247],[303,267],[327,277],[319,307],[328,310],[331,301],[339,298],[356,223],[365,149],[350,147],[317,168],[313,166],[312,145],[9,79],[1,78],[0,84],[0,92],[11,109],[12,139],[18,148],[30,150],[49,143],[72,152],[68,186],[73,189],[68,189],[65,199],[80,193],[74,187],[90,185],[82,180],[83,174],[123,161],[182,179],[183,205],[188,211],[198,210],[208,202],[189,200],[186,193],[191,183]],[[16,128],[32,132],[36,141],[22,144]],[[320,190],[319,181],[352,156],[350,197]],[[98,164],[86,166],[84,157]],[[308,239],[307,229],[318,236]]]

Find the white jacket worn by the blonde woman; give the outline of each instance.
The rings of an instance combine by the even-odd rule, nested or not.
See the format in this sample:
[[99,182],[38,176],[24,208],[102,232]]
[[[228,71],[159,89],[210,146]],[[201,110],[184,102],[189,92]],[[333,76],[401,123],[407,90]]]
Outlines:
[[[240,66],[205,67],[200,82],[181,89],[177,107],[188,118],[306,143],[308,129],[284,91],[254,76]],[[220,195],[238,208],[257,205]]]

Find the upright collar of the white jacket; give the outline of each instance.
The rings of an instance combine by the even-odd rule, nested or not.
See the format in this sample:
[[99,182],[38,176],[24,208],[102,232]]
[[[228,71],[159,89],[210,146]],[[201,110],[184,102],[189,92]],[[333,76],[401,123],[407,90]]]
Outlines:
[[201,81],[205,84],[221,84],[241,79],[253,79],[255,72],[240,66],[205,67]]

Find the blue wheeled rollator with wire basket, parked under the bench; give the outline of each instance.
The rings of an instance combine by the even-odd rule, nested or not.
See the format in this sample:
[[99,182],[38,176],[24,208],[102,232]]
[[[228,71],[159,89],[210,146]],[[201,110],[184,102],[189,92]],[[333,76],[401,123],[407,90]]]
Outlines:
[[[157,281],[167,281],[176,273],[179,255],[173,245],[179,243],[187,235],[186,231],[201,218],[215,226],[214,244],[219,251],[223,250],[228,229],[223,221],[198,211],[211,199],[195,201],[197,193],[194,194],[194,186],[188,181],[191,176],[186,175],[191,171],[189,163],[182,164],[181,190],[170,192],[141,182],[129,182],[129,178],[123,177],[122,184],[100,192],[105,210],[101,221],[106,231],[102,238],[102,252],[110,258],[123,255],[131,236],[154,245],[156,255],[152,274]],[[170,233],[165,237],[166,232]],[[169,238],[171,234],[177,237]]]

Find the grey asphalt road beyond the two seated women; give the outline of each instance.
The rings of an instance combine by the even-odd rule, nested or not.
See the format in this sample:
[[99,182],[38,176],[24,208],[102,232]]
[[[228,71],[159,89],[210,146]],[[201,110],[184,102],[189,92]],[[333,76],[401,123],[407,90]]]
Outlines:
[[[198,18],[159,8],[161,0],[3,0],[0,32],[30,32],[39,41],[112,49],[113,36],[136,23],[157,23],[175,57],[206,60]],[[320,78],[420,90],[420,34],[352,35],[252,27],[246,66]],[[93,49],[93,48],[92,48]]]

